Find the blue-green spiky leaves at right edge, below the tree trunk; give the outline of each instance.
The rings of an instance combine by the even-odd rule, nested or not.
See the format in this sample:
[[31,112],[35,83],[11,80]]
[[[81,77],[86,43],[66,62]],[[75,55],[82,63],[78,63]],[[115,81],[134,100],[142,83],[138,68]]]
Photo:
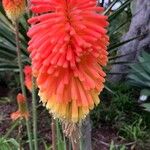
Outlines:
[[[128,82],[141,89],[139,101],[145,102],[150,96],[150,54],[143,51],[138,57],[138,63],[130,65]],[[150,103],[141,104],[145,110],[150,111]]]

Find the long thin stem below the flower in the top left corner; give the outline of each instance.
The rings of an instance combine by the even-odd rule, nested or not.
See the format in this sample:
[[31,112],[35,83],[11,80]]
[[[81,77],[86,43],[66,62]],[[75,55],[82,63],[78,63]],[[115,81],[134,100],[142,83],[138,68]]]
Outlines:
[[[20,73],[20,84],[21,84],[21,90],[26,98],[26,90],[24,85],[24,74],[23,74],[23,66],[22,66],[22,57],[21,57],[21,50],[20,50],[20,44],[19,44],[19,29],[18,29],[18,22],[15,22],[15,33],[16,33],[16,50],[17,50],[17,56],[18,56],[18,66],[19,66],[19,73]],[[28,111],[28,106],[26,103],[26,109]],[[27,133],[28,133],[28,139],[29,139],[29,147],[30,150],[33,150],[32,148],[32,137],[31,137],[31,128],[30,128],[30,122],[29,120],[26,120],[26,127],[27,127]]]

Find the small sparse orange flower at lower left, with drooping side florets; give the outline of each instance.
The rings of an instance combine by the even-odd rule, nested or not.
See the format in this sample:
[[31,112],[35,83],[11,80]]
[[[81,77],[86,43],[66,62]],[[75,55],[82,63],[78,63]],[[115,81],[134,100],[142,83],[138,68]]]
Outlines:
[[19,108],[16,112],[13,112],[11,114],[11,119],[13,121],[17,119],[28,119],[29,112],[27,111],[27,108],[26,108],[26,99],[21,93],[17,95],[17,103],[18,103]]

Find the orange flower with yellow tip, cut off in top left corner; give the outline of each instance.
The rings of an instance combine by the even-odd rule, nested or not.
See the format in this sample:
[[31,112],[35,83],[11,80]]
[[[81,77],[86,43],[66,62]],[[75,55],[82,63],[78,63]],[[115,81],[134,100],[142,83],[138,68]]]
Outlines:
[[25,0],[2,0],[2,4],[6,15],[12,22],[19,19],[26,7]]

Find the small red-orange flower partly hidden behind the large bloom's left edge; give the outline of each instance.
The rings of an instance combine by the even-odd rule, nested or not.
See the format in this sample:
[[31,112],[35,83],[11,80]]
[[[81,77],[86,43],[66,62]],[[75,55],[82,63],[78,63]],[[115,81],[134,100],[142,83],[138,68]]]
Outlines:
[[25,74],[25,86],[29,91],[32,91],[32,68],[29,65],[24,67],[24,74]]

